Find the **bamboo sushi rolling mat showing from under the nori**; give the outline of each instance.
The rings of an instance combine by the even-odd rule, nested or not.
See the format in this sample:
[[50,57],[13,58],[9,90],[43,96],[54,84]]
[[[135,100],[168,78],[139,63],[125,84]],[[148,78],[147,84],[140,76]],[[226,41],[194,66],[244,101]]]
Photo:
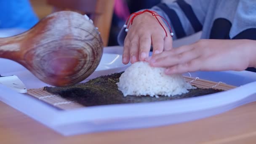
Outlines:
[[[203,79],[200,79],[199,77],[196,77],[196,78],[187,77],[187,76],[183,76],[183,77],[187,83],[190,83],[191,85],[194,85],[198,88],[213,88],[213,89],[219,89],[224,91],[230,90],[232,88],[236,88],[236,86],[233,86],[233,85],[227,85],[222,82],[216,83],[209,80],[203,80]],[[63,110],[85,107],[81,104],[76,103],[75,101],[69,101],[68,99],[64,99],[59,95],[49,93],[47,91],[43,91],[43,88],[29,89],[27,91],[27,94],[39,99],[40,101],[44,101],[47,104],[52,105],[53,107],[63,109]]]

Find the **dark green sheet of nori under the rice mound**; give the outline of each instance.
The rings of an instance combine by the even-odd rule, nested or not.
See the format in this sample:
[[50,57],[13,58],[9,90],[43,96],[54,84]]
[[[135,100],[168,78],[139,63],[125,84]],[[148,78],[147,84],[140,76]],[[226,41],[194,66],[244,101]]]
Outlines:
[[65,99],[76,101],[86,107],[106,105],[106,104],[126,104],[154,101],[168,101],[173,99],[184,99],[195,96],[202,96],[211,93],[217,93],[221,90],[212,88],[192,89],[188,93],[176,96],[160,96],[159,98],[151,96],[123,96],[123,93],[117,89],[116,83],[119,81],[121,73],[97,77],[86,83],[79,83],[69,87],[45,87],[44,90],[55,93]]

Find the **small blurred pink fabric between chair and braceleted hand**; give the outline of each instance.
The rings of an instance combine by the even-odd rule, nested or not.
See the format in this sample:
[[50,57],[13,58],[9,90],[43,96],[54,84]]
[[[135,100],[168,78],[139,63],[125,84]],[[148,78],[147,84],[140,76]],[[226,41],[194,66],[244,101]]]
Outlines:
[[124,0],[115,0],[114,12],[120,19],[123,19],[124,21],[126,21],[130,15],[130,11]]

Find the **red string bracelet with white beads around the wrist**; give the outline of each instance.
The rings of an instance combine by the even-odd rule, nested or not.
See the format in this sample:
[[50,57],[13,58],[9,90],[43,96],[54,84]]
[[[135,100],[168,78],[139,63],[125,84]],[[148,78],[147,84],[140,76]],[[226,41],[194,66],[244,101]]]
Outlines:
[[[165,20],[165,22],[168,24],[168,27],[170,28],[171,37],[173,36],[173,32],[172,32],[172,30],[171,30],[171,26],[170,26],[170,24],[166,21],[166,19],[163,18],[163,16],[160,16],[159,14],[157,14],[155,11],[150,11],[150,10],[144,10],[144,11],[139,11],[139,12],[136,12],[136,13],[132,13],[132,14],[128,17],[127,21],[125,22],[125,25],[123,25],[123,27],[126,28],[126,29],[125,29],[125,32],[128,32],[129,26],[133,24],[133,19],[134,19],[136,16],[139,16],[140,14],[145,13],[145,12],[149,12],[149,13],[152,14],[152,16],[155,16],[155,19],[157,19],[157,21],[159,22],[159,24],[161,25],[161,27],[163,27],[163,24],[160,23],[160,21],[159,21],[159,19],[157,18],[157,16],[159,16],[159,17],[161,17],[163,20]],[[131,17],[131,16],[132,16],[132,17]],[[130,18],[131,18],[131,20],[129,21],[129,24],[128,24],[128,20],[129,20]],[[164,31],[165,31],[166,37],[168,37],[167,31],[165,30],[164,27],[163,27],[163,29],[164,29]]]

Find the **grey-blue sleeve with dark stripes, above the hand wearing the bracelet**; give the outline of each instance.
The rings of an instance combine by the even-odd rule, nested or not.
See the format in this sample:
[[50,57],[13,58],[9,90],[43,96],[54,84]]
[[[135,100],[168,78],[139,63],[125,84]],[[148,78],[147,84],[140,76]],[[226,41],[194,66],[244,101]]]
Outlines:
[[[164,1],[165,2],[155,5],[150,10],[157,12],[168,21],[174,33],[174,40],[192,35],[203,29],[203,23],[210,0]],[[123,45],[125,36],[125,28],[122,28],[117,37],[117,41],[120,45]]]

